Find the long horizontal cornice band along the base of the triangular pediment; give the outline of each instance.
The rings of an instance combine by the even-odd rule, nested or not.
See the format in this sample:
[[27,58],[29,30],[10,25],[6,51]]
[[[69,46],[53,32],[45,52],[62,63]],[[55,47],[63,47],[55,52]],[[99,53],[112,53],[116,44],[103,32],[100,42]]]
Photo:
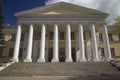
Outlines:
[[107,15],[98,15],[98,14],[41,14],[41,15],[34,15],[34,14],[24,14],[24,15],[19,15],[17,18],[106,18]]

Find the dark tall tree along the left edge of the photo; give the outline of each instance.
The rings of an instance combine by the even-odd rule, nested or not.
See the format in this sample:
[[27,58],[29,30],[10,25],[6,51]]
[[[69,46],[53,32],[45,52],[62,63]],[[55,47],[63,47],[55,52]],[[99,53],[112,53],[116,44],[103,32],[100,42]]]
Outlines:
[[2,2],[0,0],[0,56],[2,55],[2,51],[3,51],[3,14],[2,14]]

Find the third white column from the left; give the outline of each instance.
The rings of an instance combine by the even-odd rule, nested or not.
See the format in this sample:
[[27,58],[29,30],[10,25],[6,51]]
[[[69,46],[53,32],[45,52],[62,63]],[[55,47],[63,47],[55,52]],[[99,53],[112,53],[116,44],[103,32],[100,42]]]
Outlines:
[[45,25],[41,29],[40,55],[37,62],[45,62]]

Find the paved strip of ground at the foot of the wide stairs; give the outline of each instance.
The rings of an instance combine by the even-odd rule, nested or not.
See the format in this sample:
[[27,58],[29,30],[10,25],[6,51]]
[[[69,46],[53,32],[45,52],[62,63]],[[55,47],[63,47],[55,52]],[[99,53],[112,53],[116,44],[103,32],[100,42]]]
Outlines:
[[34,76],[0,77],[0,80],[120,80],[120,77]]

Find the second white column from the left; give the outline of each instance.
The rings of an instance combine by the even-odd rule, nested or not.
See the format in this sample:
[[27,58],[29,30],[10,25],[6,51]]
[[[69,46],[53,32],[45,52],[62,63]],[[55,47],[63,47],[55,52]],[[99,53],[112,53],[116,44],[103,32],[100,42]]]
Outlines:
[[28,36],[28,43],[27,43],[27,54],[24,62],[32,62],[32,43],[33,43],[33,25],[29,27],[29,36]]

